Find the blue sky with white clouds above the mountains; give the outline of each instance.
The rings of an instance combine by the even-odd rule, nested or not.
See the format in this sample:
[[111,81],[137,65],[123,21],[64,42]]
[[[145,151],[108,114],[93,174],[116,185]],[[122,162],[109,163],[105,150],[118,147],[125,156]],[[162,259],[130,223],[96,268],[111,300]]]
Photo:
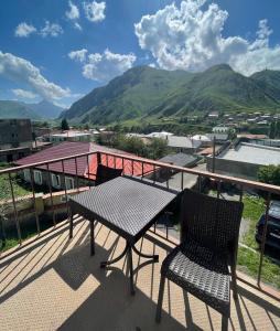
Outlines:
[[279,0],[9,0],[0,99],[69,107],[137,65],[280,70]]

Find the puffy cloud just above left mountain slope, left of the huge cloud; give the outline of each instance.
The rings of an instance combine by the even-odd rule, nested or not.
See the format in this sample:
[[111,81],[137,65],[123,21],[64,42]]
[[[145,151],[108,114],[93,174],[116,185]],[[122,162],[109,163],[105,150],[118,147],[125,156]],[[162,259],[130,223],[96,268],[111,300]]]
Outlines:
[[87,63],[83,66],[83,76],[94,81],[108,82],[131,68],[136,58],[133,53],[117,54],[109,50],[103,54],[89,54]]

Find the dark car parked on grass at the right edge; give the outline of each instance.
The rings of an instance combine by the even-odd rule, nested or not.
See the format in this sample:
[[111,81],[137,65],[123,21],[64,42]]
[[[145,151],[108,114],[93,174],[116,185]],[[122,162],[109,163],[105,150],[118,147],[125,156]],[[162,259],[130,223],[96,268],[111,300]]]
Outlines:
[[[266,215],[262,214],[256,225],[256,241],[260,244],[266,222]],[[280,201],[271,201],[268,212],[268,227],[266,246],[280,249]]]

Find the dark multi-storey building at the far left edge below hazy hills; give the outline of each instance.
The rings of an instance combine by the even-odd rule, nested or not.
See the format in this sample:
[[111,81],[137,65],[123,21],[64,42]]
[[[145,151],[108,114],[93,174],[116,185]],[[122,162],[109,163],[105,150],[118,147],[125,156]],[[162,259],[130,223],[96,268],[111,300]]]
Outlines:
[[0,149],[32,148],[30,119],[0,119]]

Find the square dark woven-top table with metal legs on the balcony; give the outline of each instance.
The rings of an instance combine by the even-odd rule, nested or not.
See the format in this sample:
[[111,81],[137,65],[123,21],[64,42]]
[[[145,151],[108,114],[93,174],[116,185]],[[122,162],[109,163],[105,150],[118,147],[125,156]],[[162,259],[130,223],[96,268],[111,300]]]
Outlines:
[[159,260],[158,255],[146,255],[134,244],[155,222],[157,216],[176,197],[177,191],[163,188],[146,180],[118,177],[101,185],[69,197],[69,237],[73,237],[73,215],[79,214],[90,221],[90,252],[95,254],[94,221],[98,221],[126,239],[125,250],[110,261],[103,261],[105,268],[126,254],[129,265],[130,291],[133,288],[132,250],[146,258]]

